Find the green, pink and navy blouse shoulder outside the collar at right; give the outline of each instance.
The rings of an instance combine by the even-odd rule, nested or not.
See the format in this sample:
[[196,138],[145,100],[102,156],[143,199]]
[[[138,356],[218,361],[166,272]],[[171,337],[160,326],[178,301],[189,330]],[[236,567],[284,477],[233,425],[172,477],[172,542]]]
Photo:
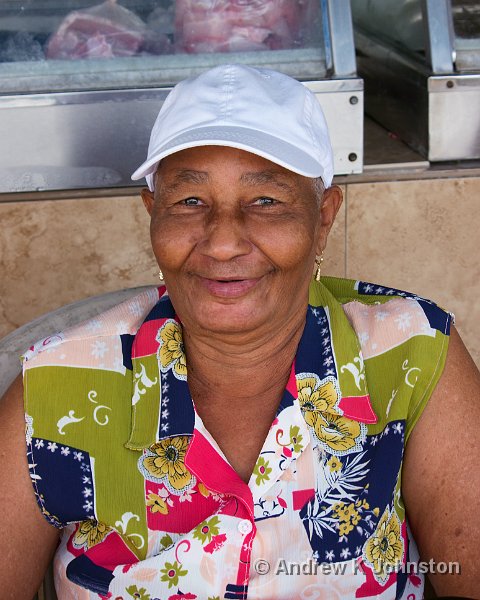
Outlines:
[[443,372],[453,315],[394,287],[333,277],[321,283],[323,301],[342,315],[337,339],[345,340],[351,328],[358,340],[375,407],[385,414],[390,399],[388,418],[405,419],[408,437]]

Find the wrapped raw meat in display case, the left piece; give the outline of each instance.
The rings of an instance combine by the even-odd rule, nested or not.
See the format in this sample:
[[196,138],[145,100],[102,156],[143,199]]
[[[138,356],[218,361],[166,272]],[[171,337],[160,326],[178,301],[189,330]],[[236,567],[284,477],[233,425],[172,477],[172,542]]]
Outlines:
[[112,58],[132,56],[144,41],[145,23],[133,12],[106,0],[69,13],[50,37],[47,58]]

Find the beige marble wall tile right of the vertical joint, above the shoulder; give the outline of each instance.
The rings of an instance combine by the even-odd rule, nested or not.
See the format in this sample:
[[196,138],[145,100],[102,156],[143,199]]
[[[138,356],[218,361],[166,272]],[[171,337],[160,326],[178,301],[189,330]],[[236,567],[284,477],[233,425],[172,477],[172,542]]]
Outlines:
[[480,365],[480,178],[347,186],[347,276],[416,292],[456,315]]

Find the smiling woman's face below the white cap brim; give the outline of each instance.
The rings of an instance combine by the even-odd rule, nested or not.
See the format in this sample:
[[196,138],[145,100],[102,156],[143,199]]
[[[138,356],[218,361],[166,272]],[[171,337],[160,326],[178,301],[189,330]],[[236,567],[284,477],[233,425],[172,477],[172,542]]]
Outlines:
[[261,332],[304,310],[331,225],[322,225],[311,179],[243,150],[203,146],[165,158],[154,197],[142,196],[185,327]]

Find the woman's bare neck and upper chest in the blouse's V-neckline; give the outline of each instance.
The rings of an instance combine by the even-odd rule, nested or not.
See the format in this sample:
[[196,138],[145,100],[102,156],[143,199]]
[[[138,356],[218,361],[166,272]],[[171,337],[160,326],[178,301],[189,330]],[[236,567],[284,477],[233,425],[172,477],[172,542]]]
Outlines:
[[246,483],[287,385],[305,313],[295,312],[269,335],[196,336],[184,329],[197,414]]

